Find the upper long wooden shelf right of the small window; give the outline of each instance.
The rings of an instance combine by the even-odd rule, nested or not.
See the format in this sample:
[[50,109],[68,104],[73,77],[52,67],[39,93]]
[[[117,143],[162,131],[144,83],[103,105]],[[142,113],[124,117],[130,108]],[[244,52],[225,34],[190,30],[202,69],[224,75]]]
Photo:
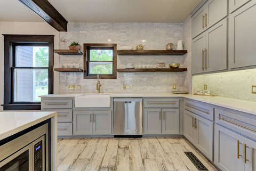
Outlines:
[[186,54],[186,50],[147,50],[147,51],[137,51],[137,50],[118,50],[118,55],[183,55]]

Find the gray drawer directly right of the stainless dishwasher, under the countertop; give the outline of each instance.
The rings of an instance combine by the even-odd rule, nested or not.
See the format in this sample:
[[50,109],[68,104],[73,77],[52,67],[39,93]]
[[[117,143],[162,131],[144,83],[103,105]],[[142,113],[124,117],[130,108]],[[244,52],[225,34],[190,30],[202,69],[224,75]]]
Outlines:
[[179,99],[170,98],[146,98],[144,99],[145,108],[179,108]]

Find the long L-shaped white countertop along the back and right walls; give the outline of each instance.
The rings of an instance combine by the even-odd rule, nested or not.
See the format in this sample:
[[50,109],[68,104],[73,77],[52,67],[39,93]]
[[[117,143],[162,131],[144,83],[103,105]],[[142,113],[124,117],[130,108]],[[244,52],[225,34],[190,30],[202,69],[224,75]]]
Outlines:
[[[83,93],[83,94],[97,94],[97,93]],[[110,97],[185,97],[220,107],[234,109],[246,113],[256,115],[256,102],[240,99],[231,99],[220,96],[200,96],[193,94],[173,94],[173,93],[100,93],[110,94]],[[80,94],[49,94],[40,97],[76,97]]]

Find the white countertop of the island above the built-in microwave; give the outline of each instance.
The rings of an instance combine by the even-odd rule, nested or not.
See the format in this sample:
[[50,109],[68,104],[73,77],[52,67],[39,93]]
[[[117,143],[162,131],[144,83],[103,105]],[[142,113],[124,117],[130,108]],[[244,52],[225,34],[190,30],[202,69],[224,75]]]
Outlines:
[[57,117],[57,112],[16,111],[0,112],[0,140],[16,134],[42,121]]

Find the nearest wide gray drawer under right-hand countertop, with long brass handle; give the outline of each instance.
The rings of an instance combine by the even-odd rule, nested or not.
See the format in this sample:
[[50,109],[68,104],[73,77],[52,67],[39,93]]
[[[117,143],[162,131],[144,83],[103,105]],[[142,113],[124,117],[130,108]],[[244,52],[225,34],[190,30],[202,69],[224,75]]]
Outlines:
[[215,123],[256,140],[256,116],[235,110],[215,109]]

